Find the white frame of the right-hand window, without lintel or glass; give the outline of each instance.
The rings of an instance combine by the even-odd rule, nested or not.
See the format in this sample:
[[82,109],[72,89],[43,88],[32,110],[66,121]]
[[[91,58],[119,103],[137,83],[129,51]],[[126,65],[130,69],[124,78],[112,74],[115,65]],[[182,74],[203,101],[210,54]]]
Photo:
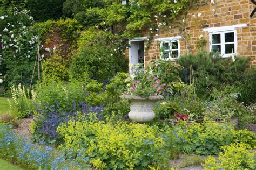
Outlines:
[[[234,33],[234,42],[225,42],[225,33]],[[220,45],[220,53],[223,56],[223,58],[230,57],[232,55],[237,55],[237,30],[232,31],[220,31],[220,32],[212,32],[209,34],[209,41],[210,41],[210,51],[212,51],[212,35],[220,34],[220,44],[214,44],[214,45]],[[232,53],[226,53],[226,44],[234,44],[234,52]]]

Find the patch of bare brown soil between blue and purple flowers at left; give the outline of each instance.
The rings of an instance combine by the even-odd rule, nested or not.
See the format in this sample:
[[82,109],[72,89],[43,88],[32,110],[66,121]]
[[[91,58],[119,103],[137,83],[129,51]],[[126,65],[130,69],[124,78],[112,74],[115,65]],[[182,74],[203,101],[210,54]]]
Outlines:
[[31,139],[31,132],[29,130],[32,118],[25,118],[19,120],[18,128],[16,128],[16,133],[22,135],[24,138],[28,140]]

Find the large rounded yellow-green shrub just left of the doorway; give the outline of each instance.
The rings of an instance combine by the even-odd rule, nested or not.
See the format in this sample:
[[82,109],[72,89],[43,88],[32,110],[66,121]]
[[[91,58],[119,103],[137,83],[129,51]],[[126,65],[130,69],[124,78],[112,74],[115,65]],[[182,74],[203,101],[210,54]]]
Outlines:
[[84,74],[99,82],[127,70],[123,55],[126,43],[110,32],[89,30],[82,33],[78,53],[73,58],[70,76],[81,80]]

